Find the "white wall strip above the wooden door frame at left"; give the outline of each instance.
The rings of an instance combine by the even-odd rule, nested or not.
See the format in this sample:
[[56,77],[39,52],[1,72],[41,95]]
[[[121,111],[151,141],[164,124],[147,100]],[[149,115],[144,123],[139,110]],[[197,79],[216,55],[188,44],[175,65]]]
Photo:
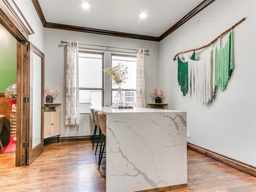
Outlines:
[[44,27],[31,0],[14,0],[34,31],[29,41],[44,52]]

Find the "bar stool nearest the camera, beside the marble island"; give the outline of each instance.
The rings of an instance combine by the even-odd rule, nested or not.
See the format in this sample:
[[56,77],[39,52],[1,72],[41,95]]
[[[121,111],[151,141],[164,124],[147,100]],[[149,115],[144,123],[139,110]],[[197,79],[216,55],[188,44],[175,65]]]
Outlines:
[[[102,131],[102,137],[101,137],[101,144],[100,144],[100,154],[99,154],[99,163],[98,163],[98,170],[100,169],[100,163],[101,163],[101,160],[102,160],[102,156],[103,156],[103,153],[104,153],[104,149],[105,149],[105,146],[106,146],[106,115],[105,114],[102,114],[100,112],[98,112],[98,116],[99,116],[99,120],[100,120],[100,129]],[[102,143],[104,141],[104,144],[103,144],[103,148],[102,148]]]

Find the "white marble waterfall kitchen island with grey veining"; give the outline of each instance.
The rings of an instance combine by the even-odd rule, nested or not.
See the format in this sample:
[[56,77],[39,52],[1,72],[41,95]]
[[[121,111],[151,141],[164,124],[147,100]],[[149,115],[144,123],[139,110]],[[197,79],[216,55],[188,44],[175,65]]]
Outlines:
[[93,109],[106,114],[106,192],[187,183],[186,112]]

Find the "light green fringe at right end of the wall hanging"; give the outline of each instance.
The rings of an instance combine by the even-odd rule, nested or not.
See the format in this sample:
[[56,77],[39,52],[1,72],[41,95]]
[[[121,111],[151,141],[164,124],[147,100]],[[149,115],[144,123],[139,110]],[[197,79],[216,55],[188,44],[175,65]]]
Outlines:
[[222,49],[216,49],[216,87],[224,91],[234,69],[234,34],[233,29],[228,42]]

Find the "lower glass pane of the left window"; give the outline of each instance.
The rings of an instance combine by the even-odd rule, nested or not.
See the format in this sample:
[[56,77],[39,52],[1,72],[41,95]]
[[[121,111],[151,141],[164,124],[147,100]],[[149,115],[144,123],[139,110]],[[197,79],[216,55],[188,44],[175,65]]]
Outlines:
[[101,90],[79,90],[80,113],[90,113],[90,106],[102,106]]

